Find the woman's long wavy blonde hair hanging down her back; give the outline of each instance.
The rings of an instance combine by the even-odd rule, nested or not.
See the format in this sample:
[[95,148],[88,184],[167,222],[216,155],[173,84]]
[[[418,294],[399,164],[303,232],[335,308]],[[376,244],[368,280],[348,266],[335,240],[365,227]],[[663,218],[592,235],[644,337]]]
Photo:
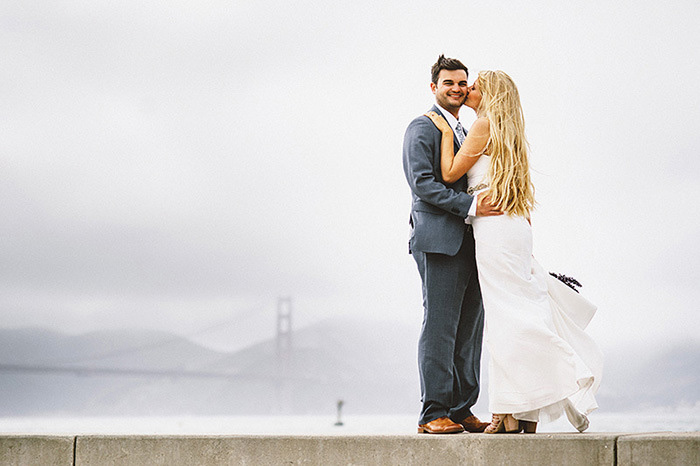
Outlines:
[[477,82],[481,92],[477,114],[488,118],[490,127],[486,153],[491,155],[491,201],[507,214],[527,217],[535,205],[535,190],[518,88],[503,71],[480,71]]

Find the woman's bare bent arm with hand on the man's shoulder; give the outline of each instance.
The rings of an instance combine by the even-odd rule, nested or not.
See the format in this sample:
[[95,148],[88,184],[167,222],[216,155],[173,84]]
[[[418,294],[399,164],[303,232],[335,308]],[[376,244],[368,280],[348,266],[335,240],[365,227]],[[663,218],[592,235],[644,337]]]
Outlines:
[[479,160],[489,140],[489,120],[477,118],[469,129],[467,137],[455,155],[452,129],[449,123],[435,112],[426,114],[435,126],[442,131],[440,142],[440,171],[446,183],[454,183]]

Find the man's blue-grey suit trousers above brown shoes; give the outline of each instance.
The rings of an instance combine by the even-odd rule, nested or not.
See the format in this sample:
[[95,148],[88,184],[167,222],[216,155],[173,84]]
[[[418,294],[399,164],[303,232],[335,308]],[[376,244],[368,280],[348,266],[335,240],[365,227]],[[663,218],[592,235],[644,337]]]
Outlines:
[[414,251],[413,257],[423,281],[419,424],[442,416],[460,422],[479,396],[484,328],[471,226],[456,255]]

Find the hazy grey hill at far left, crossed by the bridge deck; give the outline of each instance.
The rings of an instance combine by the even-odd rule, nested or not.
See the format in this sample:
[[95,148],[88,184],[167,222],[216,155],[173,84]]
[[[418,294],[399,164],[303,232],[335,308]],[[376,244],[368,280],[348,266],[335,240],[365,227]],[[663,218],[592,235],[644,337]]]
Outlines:
[[[72,336],[43,329],[0,330],[0,364],[5,365],[163,371],[197,368],[218,357],[220,353],[162,332],[102,331]],[[182,386],[162,377],[3,370],[0,414],[118,414],[199,408],[181,396]],[[148,406],[147,393],[162,399]]]

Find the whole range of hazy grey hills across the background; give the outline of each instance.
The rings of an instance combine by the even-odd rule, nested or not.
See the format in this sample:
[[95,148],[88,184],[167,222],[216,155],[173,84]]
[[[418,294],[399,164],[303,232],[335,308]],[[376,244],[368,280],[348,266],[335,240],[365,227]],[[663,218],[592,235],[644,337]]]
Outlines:
[[[2,365],[150,374],[2,370],[0,415],[332,415],[339,399],[346,402],[346,413],[417,413],[417,337],[418,329],[393,323],[328,320],[299,329],[287,366],[291,377],[283,380],[274,340],[220,353],[161,332],[69,336],[5,329],[0,330]],[[697,343],[651,356],[634,350],[609,354],[598,397],[601,409],[694,405],[700,400],[698,367]],[[484,389],[477,411],[487,412],[486,406]]]

